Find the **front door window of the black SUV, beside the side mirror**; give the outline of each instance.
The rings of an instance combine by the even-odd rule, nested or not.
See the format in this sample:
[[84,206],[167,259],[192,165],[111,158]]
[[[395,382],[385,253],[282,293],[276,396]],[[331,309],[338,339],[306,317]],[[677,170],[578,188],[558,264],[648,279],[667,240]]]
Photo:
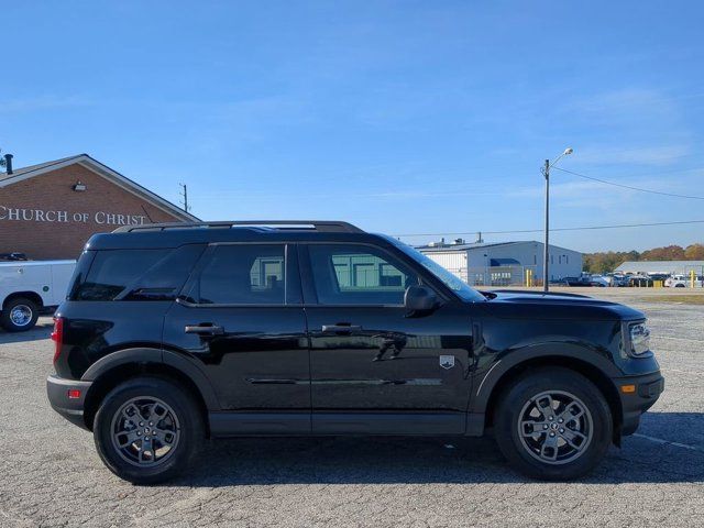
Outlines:
[[406,288],[419,284],[403,263],[374,248],[308,246],[321,305],[403,305]]

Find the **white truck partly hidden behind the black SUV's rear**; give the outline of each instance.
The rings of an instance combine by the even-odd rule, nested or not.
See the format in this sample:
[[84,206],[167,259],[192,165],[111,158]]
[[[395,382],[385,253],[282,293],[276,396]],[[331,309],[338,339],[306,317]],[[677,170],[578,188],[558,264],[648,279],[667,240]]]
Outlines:
[[40,311],[58,306],[68,290],[76,261],[0,262],[0,326],[22,332]]

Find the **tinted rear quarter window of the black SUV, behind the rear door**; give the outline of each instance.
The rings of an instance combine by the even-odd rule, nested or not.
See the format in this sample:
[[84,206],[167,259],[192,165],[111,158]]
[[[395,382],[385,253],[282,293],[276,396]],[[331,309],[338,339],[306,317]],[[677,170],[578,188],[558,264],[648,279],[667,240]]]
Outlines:
[[170,250],[97,251],[85,280],[74,286],[72,299],[114,300],[168,251]]

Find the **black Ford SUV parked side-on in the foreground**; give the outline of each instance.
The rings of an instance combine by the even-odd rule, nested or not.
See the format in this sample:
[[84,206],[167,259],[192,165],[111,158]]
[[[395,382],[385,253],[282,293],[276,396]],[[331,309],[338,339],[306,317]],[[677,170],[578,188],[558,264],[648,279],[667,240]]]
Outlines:
[[207,437],[488,430],[519,471],[564,480],[662,392],[648,336],[631,308],[479,293],[344,222],[129,227],[78,261],[47,391],[135,483]]

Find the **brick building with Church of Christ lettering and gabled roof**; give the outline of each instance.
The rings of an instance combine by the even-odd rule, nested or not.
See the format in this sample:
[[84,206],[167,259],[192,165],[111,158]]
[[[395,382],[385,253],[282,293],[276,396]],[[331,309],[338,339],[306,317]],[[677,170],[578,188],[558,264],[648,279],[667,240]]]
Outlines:
[[87,154],[0,173],[0,253],[76,258],[94,233],[194,220]]

